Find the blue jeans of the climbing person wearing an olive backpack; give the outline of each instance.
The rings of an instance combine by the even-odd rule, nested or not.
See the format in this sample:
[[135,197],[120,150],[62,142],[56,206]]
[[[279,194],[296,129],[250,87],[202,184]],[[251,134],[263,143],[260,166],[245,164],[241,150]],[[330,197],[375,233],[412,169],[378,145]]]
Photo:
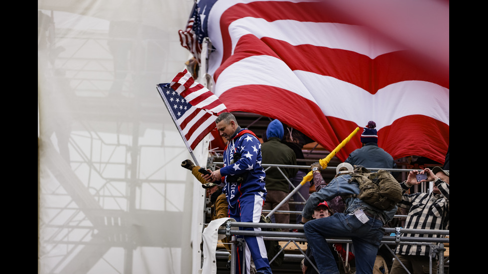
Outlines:
[[355,215],[336,213],[330,217],[311,220],[303,229],[320,274],[339,274],[336,261],[327,246],[326,238],[351,238],[355,253],[356,274],[371,274],[374,260],[383,238],[383,222],[369,216],[363,224]]

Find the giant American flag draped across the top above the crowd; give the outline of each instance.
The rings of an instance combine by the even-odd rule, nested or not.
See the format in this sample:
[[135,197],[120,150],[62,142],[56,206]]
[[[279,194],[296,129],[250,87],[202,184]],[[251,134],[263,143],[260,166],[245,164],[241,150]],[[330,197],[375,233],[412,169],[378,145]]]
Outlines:
[[[407,36],[409,29],[394,20],[405,12],[411,14],[409,27],[434,25],[422,19],[448,14],[449,2],[400,1],[409,5],[396,8],[391,2],[398,3],[200,0],[200,25],[193,29],[210,38],[213,92],[230,111],[278,118],[331,151],[372,120],[378,145],[394,159],[417,155],[443,163],[449,145],[449,67],[435,60],[441,50],[422,49],[448,46],[442,35],[446,28],[449,32],[449,20],[433,26],[425,39],[435,42],[423,45],[413,44],[419,39]],[[377,22],[368,24],[371,18]],[[374,29],[374,23],[385,31]],[[358,135],[336,156],[344,161],[360,147]]]

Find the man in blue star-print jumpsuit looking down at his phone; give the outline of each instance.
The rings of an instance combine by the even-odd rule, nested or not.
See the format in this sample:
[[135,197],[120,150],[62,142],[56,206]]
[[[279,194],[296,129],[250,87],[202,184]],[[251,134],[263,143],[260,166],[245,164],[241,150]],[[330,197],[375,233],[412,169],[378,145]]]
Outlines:
[[[215,120],[222,137],[228,140],[224,150],[224,167],[212,172],[210,177],[225,183],[224,192],[229,202],[229,217],[238,222],[258,223],[266,198],[264,169],[261,167],[261,143],[256,135],[243,129],[236,117],[224,112]],[[255,227],[240,227],[240,230],[261,231]],[[237,273],[249,273],[250,256],[256,267],[256,274],[271,274],[262,236],[239,236],[245,240],[245,258],[238,249]],[[245,260],[246,269],[242,269]]]

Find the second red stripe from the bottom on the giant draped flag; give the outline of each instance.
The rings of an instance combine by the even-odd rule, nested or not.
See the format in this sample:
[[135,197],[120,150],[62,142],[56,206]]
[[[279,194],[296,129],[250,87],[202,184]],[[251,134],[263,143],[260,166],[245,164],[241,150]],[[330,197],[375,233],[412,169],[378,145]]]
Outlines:
[[[248,49],[252,51],[249,52]],[[278,56],[277,52],[286,54]],[[449,76],[419,66],[412,61],[414,58],[411,51],[390,52],[371,59],[348,50],[312,45],[293,46],[267,37],[258,39],[251,34],[241,37],[234,54],[215,72],[215,81],[217,82],[220,73],[233,63],[256,55],[276,57],[293,71],[308,71],[334,77],[356,85],[371,94],[390,84],[414,80],[435,83],[449,89]],[[297,56],[301,58],[296,58]]]

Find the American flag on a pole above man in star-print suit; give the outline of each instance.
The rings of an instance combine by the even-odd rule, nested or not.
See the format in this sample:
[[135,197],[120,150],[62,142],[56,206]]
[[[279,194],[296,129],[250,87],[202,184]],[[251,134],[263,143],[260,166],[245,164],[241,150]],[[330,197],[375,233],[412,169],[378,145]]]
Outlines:
[[215,128],[215,119],[226,106],[184,70],[171,83],[157,85],[171,117],[190,152]]

